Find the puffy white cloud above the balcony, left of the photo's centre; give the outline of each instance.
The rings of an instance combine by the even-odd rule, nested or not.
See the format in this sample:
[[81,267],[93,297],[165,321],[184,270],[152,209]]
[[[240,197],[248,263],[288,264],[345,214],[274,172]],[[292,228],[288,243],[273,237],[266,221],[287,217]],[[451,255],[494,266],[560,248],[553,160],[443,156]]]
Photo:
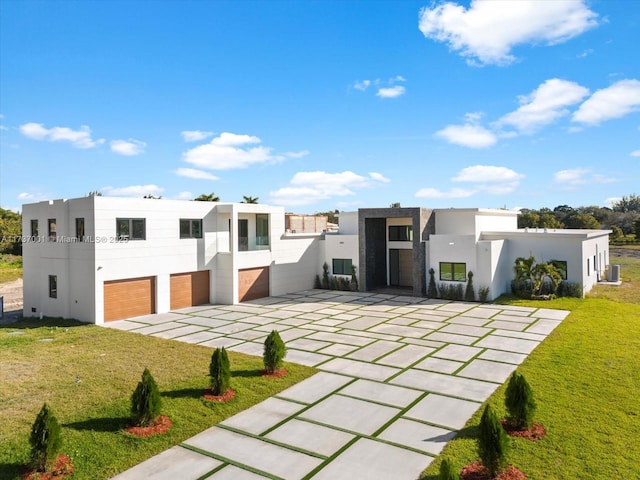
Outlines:
[[276,163],[285,159],[283,155],[274,155],[270,147],[251,146],[259,143],[258,137],[224,132],[209,143],[187,150],[182,159],[210,170],[247,168],[257,163]]

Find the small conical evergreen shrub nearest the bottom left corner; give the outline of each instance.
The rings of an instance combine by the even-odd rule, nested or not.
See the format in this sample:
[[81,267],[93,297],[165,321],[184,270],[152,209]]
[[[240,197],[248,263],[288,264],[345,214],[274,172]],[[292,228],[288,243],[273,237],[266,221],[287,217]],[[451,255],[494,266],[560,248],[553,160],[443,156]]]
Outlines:
[[31,427],[30,464],[37,471],[46,472],[55,462],[62,446],[60,424],[46,403],[42,405]]

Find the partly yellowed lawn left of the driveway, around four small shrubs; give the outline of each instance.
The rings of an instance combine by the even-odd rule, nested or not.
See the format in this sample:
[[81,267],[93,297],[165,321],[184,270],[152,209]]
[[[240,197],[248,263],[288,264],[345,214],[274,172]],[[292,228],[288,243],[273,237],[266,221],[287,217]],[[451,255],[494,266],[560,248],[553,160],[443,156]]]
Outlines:
[[[29,433],[46,401],[62,424],[63,452],[73,479],[109,478],[310,376],[285,363],[289,375],[263,378],[262,358],[229,352],[235,399],[212,404],[212,349],[171,340],[45,319],[0,328],[0,478],[17,479],[29,457]],[[12,332],[19,332],[15,334]],[[166,435],[148,439],[122,433],[130,396],[148,367],[162,395]]]

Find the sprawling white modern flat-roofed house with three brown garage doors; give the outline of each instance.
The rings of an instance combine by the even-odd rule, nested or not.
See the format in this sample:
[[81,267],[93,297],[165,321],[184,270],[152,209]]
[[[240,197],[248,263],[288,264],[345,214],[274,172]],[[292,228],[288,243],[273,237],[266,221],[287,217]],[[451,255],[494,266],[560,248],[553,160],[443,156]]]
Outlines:
[[101,324],[313,288],[356,267],[363,291],[424,295],[428,271],[474,273],[489,298],[517,257],[556,260],[583,293],[609,261],[608,230],[519,230],[518,212],[381,208],[340,214],[337,233],[292,233],[268,205],[89,196],[23,206],[24,315]]

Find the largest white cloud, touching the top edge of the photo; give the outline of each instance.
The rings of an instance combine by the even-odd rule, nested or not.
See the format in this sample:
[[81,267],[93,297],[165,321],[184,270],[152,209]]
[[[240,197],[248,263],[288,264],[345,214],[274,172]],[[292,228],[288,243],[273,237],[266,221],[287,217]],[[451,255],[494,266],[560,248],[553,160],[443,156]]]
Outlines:
[[426,38],[444,42],[467,63],[508,65],[517,45],[554,45],[595,27],[597,14],[584,0],[472,0],[469,8],[446,2],[423,8],[418,27]]

